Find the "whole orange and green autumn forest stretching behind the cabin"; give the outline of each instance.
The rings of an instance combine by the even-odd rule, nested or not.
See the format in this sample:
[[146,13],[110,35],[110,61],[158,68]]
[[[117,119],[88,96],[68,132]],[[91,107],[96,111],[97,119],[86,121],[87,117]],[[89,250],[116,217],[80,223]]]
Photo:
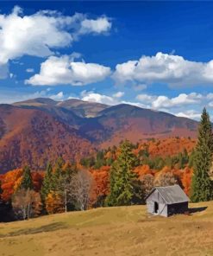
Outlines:
[[[209,115],[204,109],[198,140],[190,137],[149,138],[137,144],[123,140],[118,146],[97,150],[79,161],[58,157],[53,163],[47,162],[45,171],[31,170],[27,164],[9,170],[0,176],[1,221],[144,204],[153,187],[172,184],[179,184],[191,201],[208,201],[212,192],[203,195],[195,189],[199,176],[197,164],[200,164],[197,159],[202,153],[200,147],[206,146],[210,150],[206,164],[207,161],[210,163],[211,139]],[[207,166],[209,171],[205,177],[210,182],[207,190],[211,189],[210,166]]]

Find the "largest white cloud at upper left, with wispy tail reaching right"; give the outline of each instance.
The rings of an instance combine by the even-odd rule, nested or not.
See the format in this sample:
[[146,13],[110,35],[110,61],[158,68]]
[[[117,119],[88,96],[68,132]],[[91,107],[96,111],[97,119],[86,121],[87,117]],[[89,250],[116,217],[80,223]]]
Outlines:
[[15,7],[9,15],[0,15],[0,65],[25,54],[46,57],[54,48],[70,46],[80,35],[101,34],[110,28],[106,16],[91,20],[84,14],[63,16],[51,10],[24,16]]

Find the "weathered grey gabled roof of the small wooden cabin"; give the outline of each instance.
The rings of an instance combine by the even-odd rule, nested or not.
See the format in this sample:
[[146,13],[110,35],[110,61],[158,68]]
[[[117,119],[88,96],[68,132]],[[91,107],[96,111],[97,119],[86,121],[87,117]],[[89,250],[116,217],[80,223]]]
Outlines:
[[172,185],[168,187],[155,187],[153,190],[147,195],[147,198],[153,194],[154,190],[158,190],[160,195],[163,197],[167,204],[179,203],[179,202],[189,202],[190,199],[183,189],[179,187],[179,185]]

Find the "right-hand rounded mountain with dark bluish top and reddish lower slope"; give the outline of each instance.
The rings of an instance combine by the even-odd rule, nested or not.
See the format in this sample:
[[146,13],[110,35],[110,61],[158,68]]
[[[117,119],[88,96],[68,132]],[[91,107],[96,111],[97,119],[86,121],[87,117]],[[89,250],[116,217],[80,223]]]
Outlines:
[[196,121],[137,106],[111,106],[100,112],[97,119],[110,132],[109,138],[102,142],[103,147],[118,144],[125,138],[136,143],[143,138],[197,136]]

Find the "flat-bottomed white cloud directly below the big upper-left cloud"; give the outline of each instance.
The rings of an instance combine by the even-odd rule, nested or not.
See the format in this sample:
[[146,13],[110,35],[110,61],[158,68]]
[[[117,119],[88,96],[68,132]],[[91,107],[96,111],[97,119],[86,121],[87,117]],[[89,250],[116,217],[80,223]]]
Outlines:
[[109,75],[110,67],[73,61],[72,55],[50,56],[41,63],[40,74],[34,74],[25,82],[34,86],[84,86],[104,80]]

